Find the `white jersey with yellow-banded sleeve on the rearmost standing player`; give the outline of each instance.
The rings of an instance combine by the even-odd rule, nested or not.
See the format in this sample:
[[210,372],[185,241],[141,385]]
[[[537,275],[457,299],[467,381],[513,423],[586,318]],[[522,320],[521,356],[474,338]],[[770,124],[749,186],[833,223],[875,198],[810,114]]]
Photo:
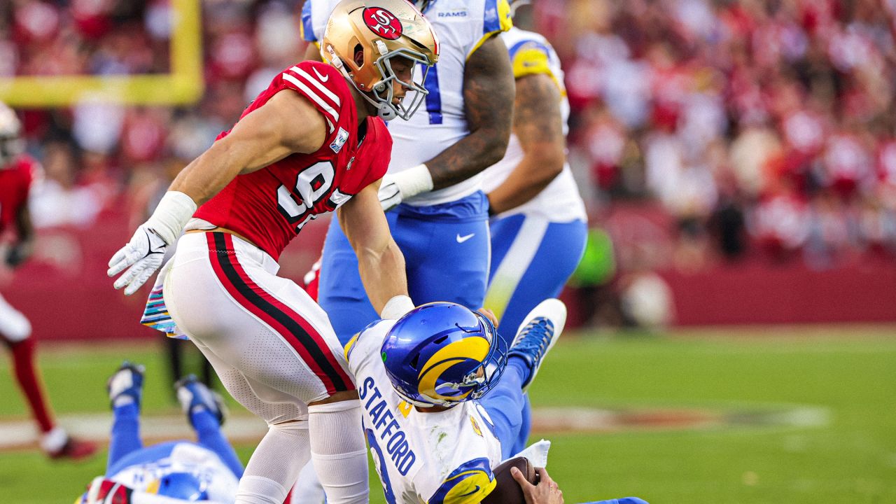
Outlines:
[[[550,76],[560,89],[561,100],[563,100],[560,103],[560,112],[563,115],[564,135],[566,135],[569,132],[567,125],[569,100],[566,100],[564,73],[560,68],[560,58],[557,57],[554,48],[547,42],[547,39],[538,33],[518,28],[502,33],[501,37],[510,51],[514,78],[520,79],[526,75],[545,74]],[[522,156],[520,140],[516,135],[511,135],[504,159],[483,172],[483,190],[490,192],[500,186],[510,176],[513,169],[520,164]],[[560,175],[538,193],[538,196],[499,216],[504,217],[517,213],[538,215],[548,222],[586,221],[585,204],[582,203],[582,196],[579,196],[579,188],[576,187],[569,163],[564,165]]]

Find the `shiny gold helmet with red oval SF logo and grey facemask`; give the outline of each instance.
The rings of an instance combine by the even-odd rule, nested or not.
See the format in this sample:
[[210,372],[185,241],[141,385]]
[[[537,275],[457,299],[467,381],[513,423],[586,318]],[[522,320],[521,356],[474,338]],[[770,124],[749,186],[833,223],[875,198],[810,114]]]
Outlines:
[[[432,25],[407,0],[342,0],[323,32],[321,56],[376,107],[379,117],[408,119],[426,99],[422,83],[438,61],[439,42]],[[424,65],[419,83],[413,72],[409,82],[399,79],[393,58],[408,59],[412,67]],[[396,82],[416,92],[393,103]]]

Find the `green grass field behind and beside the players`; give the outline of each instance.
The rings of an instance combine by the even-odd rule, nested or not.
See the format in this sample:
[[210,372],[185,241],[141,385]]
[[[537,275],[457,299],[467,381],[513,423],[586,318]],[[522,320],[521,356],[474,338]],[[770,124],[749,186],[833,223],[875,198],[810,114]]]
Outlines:
[[[44,345],[63,423],[66,414],[108,411],[105,380],[125,358],[147,365],[144,414],[177,413],[158,348]],[[625,495],[652,504],[896,502],[896,327],[564,335],[530,395],[537,407],[714,419],[534,432],[553,441],[548,470],[570,504]],[[26,416],[11,378],[0,379],[0,397],[0,421]],[[810,421],[799,421],[806,411]],[[237,445],[244,460],[252,448]],[[0,452],[0,502],[70,503],[104,466],[104,456],[71,464],[36,450]],[[382,503],[382,492],[371,501]]]

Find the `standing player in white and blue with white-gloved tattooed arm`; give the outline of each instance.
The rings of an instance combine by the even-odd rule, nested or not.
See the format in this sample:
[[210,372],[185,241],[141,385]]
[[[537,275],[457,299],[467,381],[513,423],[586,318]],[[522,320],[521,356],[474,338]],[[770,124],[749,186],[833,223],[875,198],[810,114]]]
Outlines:
[[[321,39],[334,0],[307,0],[306,39]],[[479,173],[504,156],[513,115],[513,72],[498,34],[512,26],[506,0],[416,2],[441,55],[423,85],[426,110],[392,121],[392,163],[380,199],[407,258],[417,303],[450,300],[480,308],[489,262],[487,198]],[[309,46],[309,58],[322,56]],[[327,57],[323,54],[323,57]],[[346,343],[377,318],[349,242],[334,220],[323,248],[319,302]]]

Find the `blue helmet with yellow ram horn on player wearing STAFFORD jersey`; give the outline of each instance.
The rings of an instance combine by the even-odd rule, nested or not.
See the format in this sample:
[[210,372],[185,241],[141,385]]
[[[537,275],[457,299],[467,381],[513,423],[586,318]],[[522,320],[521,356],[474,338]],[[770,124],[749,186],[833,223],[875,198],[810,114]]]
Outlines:
[[482,397],[507,360],[506,345],[487,317],[448,302],[409,311],[389,330],[381,350],[392,387],[421,407]]

